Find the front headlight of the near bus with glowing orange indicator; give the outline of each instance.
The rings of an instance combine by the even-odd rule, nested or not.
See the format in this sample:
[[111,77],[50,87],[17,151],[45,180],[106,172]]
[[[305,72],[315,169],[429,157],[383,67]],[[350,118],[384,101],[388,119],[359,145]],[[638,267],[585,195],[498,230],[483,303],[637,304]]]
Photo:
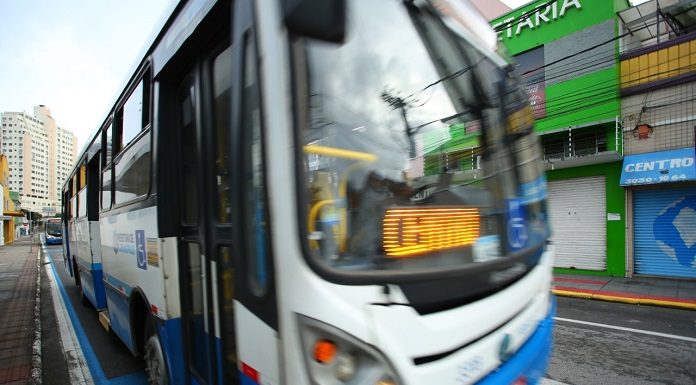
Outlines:
[[397,385],[376,348],[315,319],[298,315],[304,362],[313,384]]

